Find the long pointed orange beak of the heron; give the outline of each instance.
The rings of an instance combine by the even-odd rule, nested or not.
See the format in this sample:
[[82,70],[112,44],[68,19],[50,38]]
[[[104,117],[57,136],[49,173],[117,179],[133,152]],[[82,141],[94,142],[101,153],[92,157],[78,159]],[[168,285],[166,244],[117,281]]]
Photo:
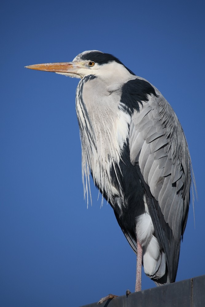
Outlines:
[[35,64],[30,66],[25,66],[25,68],[43,70],[45,72],[64,72],[64,73],[74,73],[76,68],[80,68],[79,63],[65,62],[65,63],[45,63],[45,64]]

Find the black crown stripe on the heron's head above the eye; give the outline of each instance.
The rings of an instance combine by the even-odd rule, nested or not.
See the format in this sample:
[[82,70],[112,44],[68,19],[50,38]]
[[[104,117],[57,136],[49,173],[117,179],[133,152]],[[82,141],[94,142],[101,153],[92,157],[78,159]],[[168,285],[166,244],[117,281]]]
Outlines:
[[[86,52],[84,54],[81,55],[81,59],[84,61],[93,61],[96,62],[99,65],[102,64],[107,64],[109,62],[117,62],[119,64],[122,64],[124,66],[124,64],[115,56],[113,56],[112,54],[109,53],[103,53],[103,52],[99,52],[99,51],[90,51],[90,52]],[[129,73],[131,73],[131,75],[134,75],[134,72],[132,72],[129,68],[127,68],[126,66],[124,66]]]

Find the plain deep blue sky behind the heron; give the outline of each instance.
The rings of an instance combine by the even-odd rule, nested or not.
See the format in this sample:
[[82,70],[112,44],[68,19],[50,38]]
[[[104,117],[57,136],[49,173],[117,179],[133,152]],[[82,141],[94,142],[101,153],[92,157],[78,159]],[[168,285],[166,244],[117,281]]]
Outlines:
[[[80,306],[134,291],[136,257],[91,184],[83,199],[78,80],[24,66],[112,53],[175,110],[198,196],[177,280],[205,274],[204,2],[3,1],[0,305]],[[142,275],[142,288],[154,287]]]

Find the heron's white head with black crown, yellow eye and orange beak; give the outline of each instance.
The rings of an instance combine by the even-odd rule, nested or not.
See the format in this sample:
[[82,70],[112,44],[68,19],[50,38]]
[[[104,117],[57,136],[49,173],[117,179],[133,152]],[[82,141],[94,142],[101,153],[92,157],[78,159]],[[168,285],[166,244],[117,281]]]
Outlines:
[[81,79],[89,75],[96,75],[108,79],[111,75],[117,75],[119,77],[125,73],[134,75],[115,56],[97,50],[84,51],[78,54],[72,62],[36,64],[26,66],[26,68],[56,72],[65,76]]

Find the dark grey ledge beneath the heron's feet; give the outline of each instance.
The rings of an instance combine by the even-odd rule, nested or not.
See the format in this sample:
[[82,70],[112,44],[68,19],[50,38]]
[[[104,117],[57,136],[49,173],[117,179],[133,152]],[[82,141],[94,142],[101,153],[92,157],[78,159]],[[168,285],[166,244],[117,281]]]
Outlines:
[[[107,295],[108,293],[105,293]],[[113,293],[115,294],[115,293]],[[100,299],[101,297],[99,297]],[[96,307],[97,302],[81,307]],[[205,275],[131,293],[108,300],[98,307],[203,307]]]

